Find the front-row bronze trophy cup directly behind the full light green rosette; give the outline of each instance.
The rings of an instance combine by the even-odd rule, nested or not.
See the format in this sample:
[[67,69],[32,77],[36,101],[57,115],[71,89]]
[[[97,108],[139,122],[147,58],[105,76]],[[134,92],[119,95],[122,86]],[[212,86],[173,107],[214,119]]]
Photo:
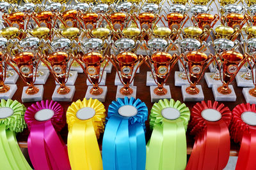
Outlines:
[[164,84],[179,58],[180,57],[176,53],[171,55],[166,52],[155,52],[151,57],[147,56],[146,64],[150,68],[154,81],[157,84],[157,86],[150,86],[152,103],[159,101],[159,99],[172,98],[170,87]]

